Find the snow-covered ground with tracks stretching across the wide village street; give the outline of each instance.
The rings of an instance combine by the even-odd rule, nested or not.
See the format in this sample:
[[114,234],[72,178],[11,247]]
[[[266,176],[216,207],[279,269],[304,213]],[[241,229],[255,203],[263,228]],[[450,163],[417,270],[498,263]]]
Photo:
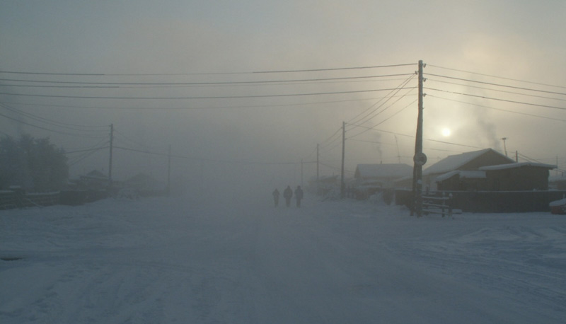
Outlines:
[[0,323],[566,323],[565,216],[269,198],[0,211]]

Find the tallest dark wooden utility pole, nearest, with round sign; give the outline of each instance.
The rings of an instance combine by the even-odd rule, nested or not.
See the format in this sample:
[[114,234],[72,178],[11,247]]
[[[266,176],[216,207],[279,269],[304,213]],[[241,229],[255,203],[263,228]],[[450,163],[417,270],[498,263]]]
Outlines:
[[422,68],[425,64],[422,64],[422,60],[419,61],[419,103],[418,103],[418,117],[417,117],[417,136],[415,140],[415,156],[413,156],[412,161],[415,163],[412,169],[412,197],[413,206],[411,209],[411,215],[417,213],[417,216],[422,216],[422,166],[427,163],[427,156],[422,153],[422,98],[424,94],[422,93]]

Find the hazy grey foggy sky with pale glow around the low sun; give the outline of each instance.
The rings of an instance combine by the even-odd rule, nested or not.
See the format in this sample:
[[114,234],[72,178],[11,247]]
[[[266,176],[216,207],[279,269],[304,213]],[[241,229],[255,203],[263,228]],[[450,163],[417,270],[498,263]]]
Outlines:
[[[50,137],[57,146],[73,151],[108,141],[108,126],[113,124],[119,132],[116,146],[166,154],[171,145],[173,155],[179,156],[172,161],[175,178],[184,176],[202,186],[211,182],[295,186],[301,183],[301,161],[306,162],[302,166],[304,184],[315,175],[315,166],[310,162],[316,159],[316,144],[324,143],[343,121],[351,121],[378,103],[387,91],[267,98],[170,98],[375,90],[395,88],[408,76],[237,86],[162,83],[410,74],[422,59],[428,64],[424,69],[424,92],[429,95],[424,97],[424,152],[430,164],[464,151],[487,147],[503,151],[501,139],[506,137],[509,154],[519,151],[552,164],[558,157],[558,164],[564,169],[566,112],[559,109],[566,108],[566,96],[560,94],[566,93],[564,17],[564,1],[0,1],[1,71],[105,74],[1,73],[0,79],[4,80],[0,81],[0,93],[8,94],[0,95],[0,103],[69,125],[100,126],[88,133],[94,138],[75,136],[74,130],[60,134],[28,124],[58,127],[0,108],[1,114],[23,122],[0,116],[1,135],[26,132],[33,137]],[[407,63],[415,65],[250,73]],[[485,83],[427,74],[517,88],[498,88],[507,92],[493,92],[485,88],[494,86]],[[40,88],[23,87],[22,84],[29,83],[6,79],[162,85]],[[416,78],[408,86],[417,86]],[[88,96],[105,98],[84,98]],[[482,96],[504,100],[486,100]],[[352,137],[346,146],[347,176],[353,175],[357,163],[401,161],[412,165],[417,105],[408,105],[416,98],[413,91],[364,123],[365,127],[379,124],[376,128],[386,132],[369,130],[353,137],[364,128],[347,130],[346,137]],[[445,127],[451,129],[450,137],[442,137],[441,129]],[[320,151],[320,161],[325,164],[320,175],[340,173],[341,147],[336,144],[339,143],[335,141]],[[161,179],[166,177],[165,156],[119,149],[114,153],[114,178],[123,179],[140,171]],[[108,170],[108,151],[98,151],[73,164],[71,174],[95,168]]]

